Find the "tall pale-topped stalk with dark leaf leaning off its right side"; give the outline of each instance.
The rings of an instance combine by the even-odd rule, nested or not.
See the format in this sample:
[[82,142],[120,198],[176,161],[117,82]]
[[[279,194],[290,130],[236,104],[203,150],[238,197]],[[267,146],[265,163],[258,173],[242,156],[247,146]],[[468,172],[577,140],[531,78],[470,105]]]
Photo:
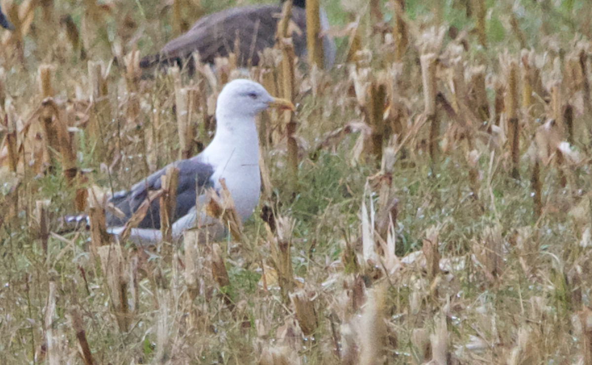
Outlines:
[[432,160],[436,160],[437,141],[440,133],[440,120],[436,114],[436,54],[427,53],[420,57],[422,64],[424,114],[430,122],[429,151]]

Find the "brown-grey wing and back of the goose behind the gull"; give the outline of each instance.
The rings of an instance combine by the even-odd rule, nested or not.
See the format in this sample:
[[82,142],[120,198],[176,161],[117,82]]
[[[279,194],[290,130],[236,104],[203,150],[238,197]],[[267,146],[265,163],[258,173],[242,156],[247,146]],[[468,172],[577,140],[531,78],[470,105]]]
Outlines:
[[[141,67],[155,63],[169,64],[189,59],[198,51],[202,62],[214,63],[215,57],[227,57],[234,52],[234,41],[239,37],[240,51],[237,62],[240,66],[256,66],[258,53],[273,47],[281,7],[263,5],[231,8],[201,18],[191,29],[165,44],[160,53],[141,60]],[[292,19],[301,28],[294,33],[294,51],[299,56],[306,49],[306,15],[301,8],[292,8]],[[191,62],[191,59],[189,59]]]

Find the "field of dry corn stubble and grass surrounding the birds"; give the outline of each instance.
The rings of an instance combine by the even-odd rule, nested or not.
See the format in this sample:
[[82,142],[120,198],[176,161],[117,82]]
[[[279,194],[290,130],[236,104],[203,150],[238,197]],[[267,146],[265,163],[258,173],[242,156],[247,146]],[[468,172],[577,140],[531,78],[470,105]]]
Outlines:
[[298,104],[260,118],[262,208],[120,246],[105,193],[207,145],[237,76],[141,77],[230,5],[174,3],[2,3],[0,363],[592,364],[584,1],[321,2],[333,70],[250,70]]

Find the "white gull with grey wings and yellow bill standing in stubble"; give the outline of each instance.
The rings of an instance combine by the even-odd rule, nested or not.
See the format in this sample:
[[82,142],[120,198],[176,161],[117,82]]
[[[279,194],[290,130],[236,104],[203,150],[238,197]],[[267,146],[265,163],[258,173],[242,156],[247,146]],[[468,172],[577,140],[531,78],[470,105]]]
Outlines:
[[[216,131],[211,143],[197,156],[175,161],[152,175],[140,180],[129,190],[116,192],[110,202],[123,212],[119,218],[107,212],[108,232],[119,235],[124,224],[147,198],[150,190],[161,188],[160,177],[174,166],[179,170],[176,208],[171,212],[173,240],[198,222],[195,204],[205,202],[201,194],[207,188],[220,192],[220,179],[233,199],[236,212],[243,221],[250,217],[259,203],[261,179],[259,172],[259,138],[255,117],[274,106],[279,110],[294,110],[285,99],[274,98],[259,83],[236,79],[227,83],[216,104]],[[198,195],[200,194],[200,195]],[[160,232],[159,199],[150,205],[146,217],[133,228],[130,240],[137,244],[153,244],[162,240]],[[70,219],[72,221],[72,219]]]

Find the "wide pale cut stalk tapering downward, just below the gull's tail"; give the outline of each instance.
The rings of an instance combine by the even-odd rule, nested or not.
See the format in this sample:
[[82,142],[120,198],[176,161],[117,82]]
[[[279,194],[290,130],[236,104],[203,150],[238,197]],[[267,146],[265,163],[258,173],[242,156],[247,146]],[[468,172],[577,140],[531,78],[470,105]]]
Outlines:
[[99,247],[102,272],[107,277],[107,287],[112,308],[121,332],[127,332],[130,325],[130,311],[127,303],[127,275],[124,270],[127,263],[121,252],[120,244]]

